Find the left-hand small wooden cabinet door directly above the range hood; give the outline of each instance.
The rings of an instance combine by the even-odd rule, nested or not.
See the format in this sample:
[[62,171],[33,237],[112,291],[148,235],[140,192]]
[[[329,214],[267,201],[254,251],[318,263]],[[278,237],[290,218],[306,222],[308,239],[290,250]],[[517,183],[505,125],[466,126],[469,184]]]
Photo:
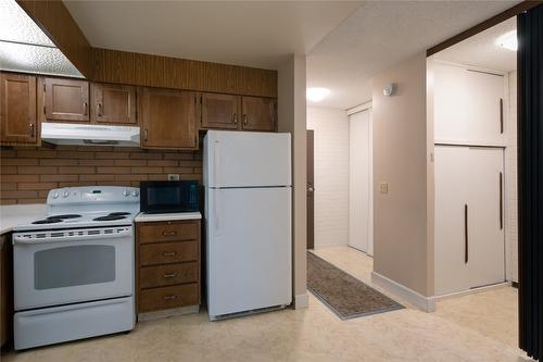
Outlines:
[[46,118],[48,121],[89,122],[89,83],[46,78]]

